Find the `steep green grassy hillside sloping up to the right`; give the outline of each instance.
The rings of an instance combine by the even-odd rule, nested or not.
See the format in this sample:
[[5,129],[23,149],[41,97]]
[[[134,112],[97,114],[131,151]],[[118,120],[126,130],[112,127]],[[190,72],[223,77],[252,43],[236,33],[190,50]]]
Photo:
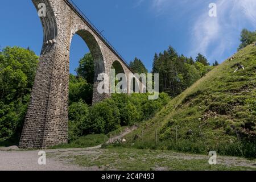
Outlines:
[[[127,136],[127,146],[256,157],[256,46],[251,44],[234,57],[143,123],[133,133],[139,139]],[[234,73],[236,63],[245,70]]]

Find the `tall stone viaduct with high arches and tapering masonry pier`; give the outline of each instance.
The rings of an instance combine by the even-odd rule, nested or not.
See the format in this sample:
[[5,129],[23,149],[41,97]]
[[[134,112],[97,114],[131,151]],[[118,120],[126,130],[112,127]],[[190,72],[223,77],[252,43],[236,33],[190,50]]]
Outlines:
[[[47,148],[68,141],[69,51],[73,35],[85,41],[94,59],[93,102],[108,94],[97,92],[97,76],[132,73],[129,66],[70,0],[32,0],[36,10],[46,6],[40,20],[44,40],[31,101],[20,138],[20,148]],[[128,85],[129,86],[129,83]]]

